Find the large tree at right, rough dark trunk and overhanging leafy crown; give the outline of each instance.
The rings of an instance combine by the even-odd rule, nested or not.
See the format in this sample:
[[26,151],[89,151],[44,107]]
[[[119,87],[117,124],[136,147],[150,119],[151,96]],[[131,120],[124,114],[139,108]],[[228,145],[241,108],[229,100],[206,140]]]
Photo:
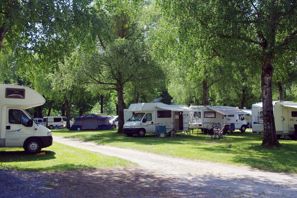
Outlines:
[[[296,1],[169,1],[163,12],[178,16],[183,26],[199,32],[201,46],[210,45],[220,57],[247,57],[261,65],[264,138],[262,145],[281,146],[272,107],[274,57],[296,49]],[[195,26],[193,26],[195,25]],[[207,41],[207,42],[205,42]]]

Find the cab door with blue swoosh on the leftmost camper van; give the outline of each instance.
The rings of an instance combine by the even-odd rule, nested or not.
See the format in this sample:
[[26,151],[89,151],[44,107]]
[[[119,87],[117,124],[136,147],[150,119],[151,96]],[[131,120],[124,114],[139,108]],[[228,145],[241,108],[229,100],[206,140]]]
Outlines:
[[29,136],[34,135],[34,127],[27,127],[29,117],[20,109],[7,108],[5,146],[23,146]]

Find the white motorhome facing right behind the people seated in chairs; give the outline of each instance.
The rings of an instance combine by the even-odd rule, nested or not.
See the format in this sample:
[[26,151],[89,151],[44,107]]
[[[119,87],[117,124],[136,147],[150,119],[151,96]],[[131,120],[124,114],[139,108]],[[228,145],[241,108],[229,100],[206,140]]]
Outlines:
[[247,122],[240,114],[245,112],[236,107],[228,106],[190,106],[189,128],[204,130],[206,125],[212,124],[222,128],[224,124],[234,123],[235,129],[245,132]]

